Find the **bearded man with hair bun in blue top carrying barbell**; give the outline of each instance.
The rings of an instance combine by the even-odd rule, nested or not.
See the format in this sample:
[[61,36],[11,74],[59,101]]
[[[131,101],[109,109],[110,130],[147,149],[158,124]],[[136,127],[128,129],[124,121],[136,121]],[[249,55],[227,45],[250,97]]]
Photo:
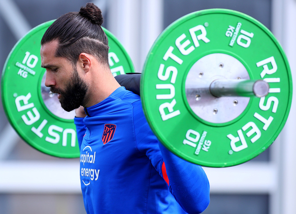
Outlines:
[[102,22],[100,9],[88,3],[57,19],[40,50],[45,85],[58,93],[65,110],[78,108],[74,122],[86,212],[204,211],[209,204],[205,172],[159,143],[139,95],[114,79]]

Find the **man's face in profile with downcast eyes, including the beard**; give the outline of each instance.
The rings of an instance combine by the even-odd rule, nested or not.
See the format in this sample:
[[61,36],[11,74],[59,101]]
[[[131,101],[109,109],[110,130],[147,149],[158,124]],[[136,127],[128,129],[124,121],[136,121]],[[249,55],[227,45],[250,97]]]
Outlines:
[[55,57],[57,45],[57,41],[48,42],[40,50],[41,66],[46,68],[45,86],[58,94],[65,111],[72,111],[83,105],[88,86],[69,60]]

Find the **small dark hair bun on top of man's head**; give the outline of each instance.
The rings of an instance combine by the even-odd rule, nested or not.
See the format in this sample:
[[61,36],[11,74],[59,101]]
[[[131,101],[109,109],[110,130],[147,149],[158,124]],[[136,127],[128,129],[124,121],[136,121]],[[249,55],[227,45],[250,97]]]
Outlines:
[[85,7],[81,7],[79,14],[100,26],[103,24],[102,11],[94,3],[87,3]]

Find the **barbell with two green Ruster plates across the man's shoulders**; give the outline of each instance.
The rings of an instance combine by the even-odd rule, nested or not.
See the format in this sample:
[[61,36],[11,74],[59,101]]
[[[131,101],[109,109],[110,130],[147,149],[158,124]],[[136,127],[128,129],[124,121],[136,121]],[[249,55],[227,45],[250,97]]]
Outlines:
[[[79,157],[74,115],[64,115],[43,86],[40,40],[51,23],[32,29],[10,52],[3,106],[31,146]],[[122,45],[104,30],[114,76],[134,72]],[[263,24],[237,11],[207,9],[181,17],[159,35],[143,66],[140,96],[167,149],[198,165],[227,167],[251,160],[277,138],[291,107],[292,77],[280,43]]]

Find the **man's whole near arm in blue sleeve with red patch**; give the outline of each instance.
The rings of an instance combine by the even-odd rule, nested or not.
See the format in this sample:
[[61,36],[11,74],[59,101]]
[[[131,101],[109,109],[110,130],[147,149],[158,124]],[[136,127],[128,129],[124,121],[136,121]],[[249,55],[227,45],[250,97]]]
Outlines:
[[164,182],[168,184],[168,189],[175,200],[189,214],[204,211],[209,204],[210,187],[202,167],[168,151],[153,134],[142,108],[134,108],[134,118],[137,118],[134,127],[137,149],[150,159]]

